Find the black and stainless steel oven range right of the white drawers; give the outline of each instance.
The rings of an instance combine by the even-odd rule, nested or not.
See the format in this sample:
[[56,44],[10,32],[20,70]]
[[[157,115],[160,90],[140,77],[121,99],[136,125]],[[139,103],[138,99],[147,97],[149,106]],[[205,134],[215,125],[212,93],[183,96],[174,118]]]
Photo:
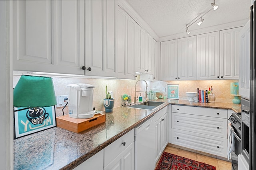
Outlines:
[[234,152],[231,152],[232,170],[238,170],[238,155],[242,153],[241,113],[232,113],[228,119],[231,123],[231,135],[234,134]]

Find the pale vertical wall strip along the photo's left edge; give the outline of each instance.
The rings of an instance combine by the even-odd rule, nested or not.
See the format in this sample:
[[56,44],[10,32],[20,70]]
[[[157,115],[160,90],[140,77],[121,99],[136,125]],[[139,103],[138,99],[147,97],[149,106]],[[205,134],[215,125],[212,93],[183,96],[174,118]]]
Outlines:
[[12,124],[12,66],[10,55],[7,51],[8,29],[6,5],[8,0],[0,0],[0,165],[1,169],[13,169],[13,124]]

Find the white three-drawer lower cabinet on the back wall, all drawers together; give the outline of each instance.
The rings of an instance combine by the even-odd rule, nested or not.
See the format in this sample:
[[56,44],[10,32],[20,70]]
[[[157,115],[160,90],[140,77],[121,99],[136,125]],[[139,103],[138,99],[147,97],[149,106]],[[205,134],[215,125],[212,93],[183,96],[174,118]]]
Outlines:
[[172,105],[172,144],[227,157],[228,110]]

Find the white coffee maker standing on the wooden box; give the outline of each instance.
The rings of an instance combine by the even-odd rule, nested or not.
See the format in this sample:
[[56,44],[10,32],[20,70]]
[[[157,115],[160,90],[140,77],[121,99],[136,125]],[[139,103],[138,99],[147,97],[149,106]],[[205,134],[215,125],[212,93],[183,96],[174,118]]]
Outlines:
[[93,88],[91,84],[68,84],[69,117],[88,119],[94,116],[92,110]]

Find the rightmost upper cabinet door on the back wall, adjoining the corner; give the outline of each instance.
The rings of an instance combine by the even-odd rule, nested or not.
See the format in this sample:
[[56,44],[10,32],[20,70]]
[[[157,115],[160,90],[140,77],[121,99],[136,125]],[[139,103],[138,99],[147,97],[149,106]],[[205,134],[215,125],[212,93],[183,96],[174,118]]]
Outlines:
[[220,31],[220,79],[238,79],[240,30],[242,27]]

